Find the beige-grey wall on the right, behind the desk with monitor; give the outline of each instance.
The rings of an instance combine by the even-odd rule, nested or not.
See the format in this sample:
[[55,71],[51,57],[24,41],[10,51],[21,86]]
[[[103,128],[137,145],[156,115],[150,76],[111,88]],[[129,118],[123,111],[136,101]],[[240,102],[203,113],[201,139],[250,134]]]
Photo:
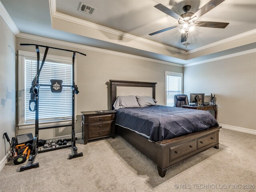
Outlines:
[[183,88],[215,94],[219,123],[256,130],[256,53],[185,67]]

